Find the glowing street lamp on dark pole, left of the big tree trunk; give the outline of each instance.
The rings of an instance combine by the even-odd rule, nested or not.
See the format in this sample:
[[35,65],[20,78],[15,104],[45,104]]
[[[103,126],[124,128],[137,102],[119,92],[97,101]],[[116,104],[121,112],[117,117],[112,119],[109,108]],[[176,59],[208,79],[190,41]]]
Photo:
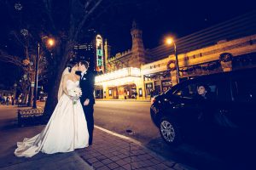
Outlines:
[[[53,47],[55,45],[55,39],[50,38],[50,37],[43,37],[48,38],[47,40],[47,47]],[[37,53],[37,59],[36,59],[36,76],[35,76],[35,89],[34,89],[34,99],[33,99],[33,109],[37,108],[37,98],[38,98],[38,61],[39,61],[39,56],[40,56],[40,42],[38,42],[38,53]]]

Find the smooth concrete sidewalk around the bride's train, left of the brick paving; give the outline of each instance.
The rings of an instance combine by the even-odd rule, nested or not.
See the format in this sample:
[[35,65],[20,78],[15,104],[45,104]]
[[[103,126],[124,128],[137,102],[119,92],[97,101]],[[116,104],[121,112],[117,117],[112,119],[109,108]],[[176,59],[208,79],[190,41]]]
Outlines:
[[58,153],[46,155],[38,153],[31,158],[16,157],[14,151],[16,142],[22,141],[24,137],[32,137],[40,133],[44,126],[37,127],[12,127],[0,132],[0,169],[1,170],[32,170],[32,169],[78,169],[91,170],[92,167],[86,163],[77,152]]

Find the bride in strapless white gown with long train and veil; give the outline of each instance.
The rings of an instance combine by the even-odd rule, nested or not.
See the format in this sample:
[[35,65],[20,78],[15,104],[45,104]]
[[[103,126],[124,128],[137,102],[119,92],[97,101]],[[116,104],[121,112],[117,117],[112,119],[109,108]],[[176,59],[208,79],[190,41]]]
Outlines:
[[46,154],[70,152],[87,147],[89,133],[80,101],[73,104],[68,90],[79,87],[78,63],[70,62],[62,73],[58,104],[43,131],[17,143],[15,156],[32,157],[39,151]]

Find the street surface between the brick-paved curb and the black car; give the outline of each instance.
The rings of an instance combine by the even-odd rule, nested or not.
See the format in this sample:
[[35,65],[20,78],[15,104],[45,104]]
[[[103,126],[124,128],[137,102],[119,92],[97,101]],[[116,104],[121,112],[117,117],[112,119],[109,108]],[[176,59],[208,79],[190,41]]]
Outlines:
[[[216,166],[217,157],[192,144],[170,147],[160,138],[157,127],[151,122],[150,102],[96,101],[95,124],[115,133],[136,139],[160,156],[188,164],[191,167]],[[127,132],[128,131],[128,132]]]

